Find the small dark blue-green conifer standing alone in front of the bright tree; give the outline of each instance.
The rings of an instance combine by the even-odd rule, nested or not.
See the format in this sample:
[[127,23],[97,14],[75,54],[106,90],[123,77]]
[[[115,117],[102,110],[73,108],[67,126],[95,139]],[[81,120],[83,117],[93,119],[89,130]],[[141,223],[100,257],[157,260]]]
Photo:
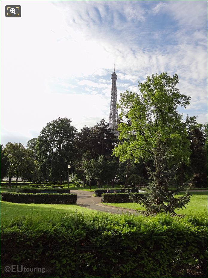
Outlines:
[[[177,169],[176,167],[168,169],[166,143],[161,141],[160,134],[157,134],[157,142],[153,152],[153,160],[155,171],[152,171],[147,165],[148,174],[150,175],[151,182],[148,184],[145,193],[145,198],[131,196],[134,202],[145,206],[146,214],[157,214],[158,212],[166,212],[176,214],[175,209],[185,208],[185,205],[190,201],[189,190],[179,197],[175,198],[174,195],[182,189],[178,186],[176,181]],[[176,189],[168,190],[168,187],[175,186]]]

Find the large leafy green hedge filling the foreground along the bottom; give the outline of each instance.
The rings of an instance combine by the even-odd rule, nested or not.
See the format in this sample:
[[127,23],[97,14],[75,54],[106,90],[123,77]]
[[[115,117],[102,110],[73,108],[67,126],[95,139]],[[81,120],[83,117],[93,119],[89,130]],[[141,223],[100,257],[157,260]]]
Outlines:
[[40,262],[53,271],[38,277],[207,277],[207,228],[168,214],[55,214],[2,223],[1,277],[28,277],[4,267]]

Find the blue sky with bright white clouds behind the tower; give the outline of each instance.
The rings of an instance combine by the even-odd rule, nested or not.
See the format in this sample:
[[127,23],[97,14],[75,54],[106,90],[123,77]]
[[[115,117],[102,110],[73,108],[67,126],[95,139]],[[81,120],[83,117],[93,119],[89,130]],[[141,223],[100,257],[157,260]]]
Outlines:
[[[207,121],[207,1],[1,1],[1,143],[37,137],[47,122],[93,126],[117,92],[147,75],[177,73],[184,117]],[[9,108],[9,109],[8,109]]]

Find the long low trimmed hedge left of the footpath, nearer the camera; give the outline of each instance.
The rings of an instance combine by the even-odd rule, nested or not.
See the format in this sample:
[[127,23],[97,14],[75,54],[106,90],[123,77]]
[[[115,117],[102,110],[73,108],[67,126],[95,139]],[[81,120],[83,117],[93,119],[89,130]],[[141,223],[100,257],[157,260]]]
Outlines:
[[2,201],[21,204],[75,204],[77,194],[3,192]]

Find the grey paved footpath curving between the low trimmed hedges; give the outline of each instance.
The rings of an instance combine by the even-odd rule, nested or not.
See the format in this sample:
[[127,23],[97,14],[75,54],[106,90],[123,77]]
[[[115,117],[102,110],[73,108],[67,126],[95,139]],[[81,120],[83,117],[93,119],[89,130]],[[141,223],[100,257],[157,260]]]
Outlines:
[[77,204],[80,207],[90,208],[97,211],[105,211],[116,214],[123,214],[127,211],[131,214],[139,215],[137,211],[126,208],[115,208],[101,204],[101,197],[95,197],[94,192],[84,190],[70,190],[70,193],[77,194]]

